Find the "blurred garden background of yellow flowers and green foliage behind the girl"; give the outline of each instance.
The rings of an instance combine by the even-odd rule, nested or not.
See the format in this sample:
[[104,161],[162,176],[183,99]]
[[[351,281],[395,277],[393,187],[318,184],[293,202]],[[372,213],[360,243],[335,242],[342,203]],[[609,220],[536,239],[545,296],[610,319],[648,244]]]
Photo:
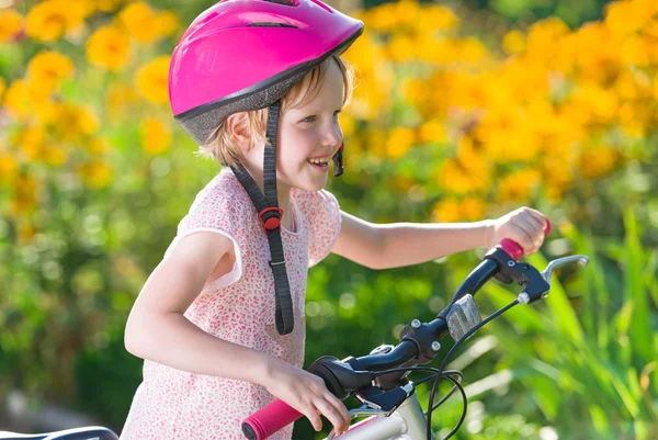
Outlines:
[[[123,426],[141,379],[128,312],[219,169],[167,102],[173,46],[212,3],[0,0],[0,430]],[[424,223],[530,205],[554,224],[532,263],[591,257],[460,351],[456,438],[658,439],[658,2],[331,3],[366,24],[329,183],[343,210]],[[483,252],[381,272],[330,256],[309,273],[306,364],[396,343]],[[512,292],[491,282],[483,313]],[[460,414],[455,396],[434,430]]]

